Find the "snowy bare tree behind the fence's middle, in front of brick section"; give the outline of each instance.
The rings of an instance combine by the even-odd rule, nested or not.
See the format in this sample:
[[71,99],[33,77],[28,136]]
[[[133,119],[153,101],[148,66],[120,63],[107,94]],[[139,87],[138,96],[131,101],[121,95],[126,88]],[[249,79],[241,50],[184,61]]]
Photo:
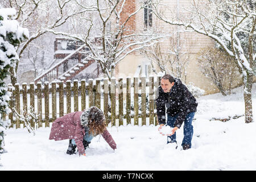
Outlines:
[[128,24],[143,9],[144,3],[129,14],[125,11],[129,8],[127,3],[129,2],[126,0],[96,0],[86,5],[76,1],[77,6],[87,11],[83,16],[77,17],[78,21],[84,21],[84,25],[88,26],[83,27],[83,32],[76,31],[77,34],[73,35],[68,32],[52,32],[83,42],[89,48],[88,56],[96,60],[102,72],[110,78],[113,76],[111,69],[129,53],[149,47],[162,38],[152,31],[133,30]]

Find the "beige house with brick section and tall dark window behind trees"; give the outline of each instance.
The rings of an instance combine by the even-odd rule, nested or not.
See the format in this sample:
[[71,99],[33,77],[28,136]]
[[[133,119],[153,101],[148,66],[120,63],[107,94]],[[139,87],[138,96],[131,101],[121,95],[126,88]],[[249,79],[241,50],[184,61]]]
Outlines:
[[[145,1],[146,2],[146,1]],[[148,6],[150,6],[150,1],[147,1]],[[188,6],[191,0],[184,0],[184,1],[164,1],[165,5],[170,5],[170,7],[174,8],[174,11],[172,13],[177,13],[177,6]],[[126,10],[129,11],[129,13],[133,13],[135,9],[138,9],[139,3],[135,0],[127,1]],[[131,8],[133,7],[133,8]],[[147,7],[147,6],[146,6]],[[181,13],[181,12],[180,12]],[[170,13],[168,17],[171,17],[172,14]],[[160,22],[159,19],[156,18],[154,14],[150,11],[150,9],[144,8],[143,11],[140,11],[134,19],[131,19],[129,22],[129,26],[134,31],[136,30],[146,30],[147,28],[155,28],[158,27],[159,30],[162,30],[166,33],[172,34],[174,31],[176,31],[175,26],[171,26],[167,23]],[[207,77],[203,75],[203,73],[200,72],[199,67],[197,67],[197,61],[196,61],[196,53],[200,51],[201,48],[207,47],[207,46],[214,46],[213,40],[208,38],[207,36],[203,36],[200,34],[197,34],[196,32],[189,31],[185,32],[183,31],[182,27],[179,27],[180,36],[184,36],[186,39],[191,39],[189,41],[193,41],[193,49],[191,52],[189,52],[189,63],[187,65],[187,77],[185,84],[188,84],[189,82],[193,82],[193,85],[204,89],[205,94],[210,93],[216,93],[218,92],[218,89],[212,81],[210,81]],[[188,40],[187,40],[188,41]],[[162,44],[162,47],[168,48],[171,45],[168,43],[168,41],[164,41]],[[133,63],[133,64],[131,64]],[[123,59],[118,66],[115,68],[115,75],[116,77],[126,77],[126,76],[134,76],[134,73],[143,73],[143,75],[155,75],[154,72],[152,72],[152,69],[148,71],[148,68],[150,68],[151,61],[145,56],[142,55],[140,52],[134,52],[128,55],[125,59]],[[124,69],[125,68],[125,69]],[[139,71],[141,69],[141,71]],[[156,72],[160,72],[160,69],[155,65]]]

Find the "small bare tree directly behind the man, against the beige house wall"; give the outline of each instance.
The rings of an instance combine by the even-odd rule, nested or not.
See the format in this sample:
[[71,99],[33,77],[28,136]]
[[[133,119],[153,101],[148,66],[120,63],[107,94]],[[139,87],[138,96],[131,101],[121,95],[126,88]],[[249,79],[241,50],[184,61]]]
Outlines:
[[191,58],[190,53],[195,41],[179,30],[174,30],[168,34],[166,39],[166,41],[158,42],[141,52],[147,59],[151,60],[154,72],[156,72],[156,68],[159,68],[160,72],[174,75],[185,82],[187,66]]

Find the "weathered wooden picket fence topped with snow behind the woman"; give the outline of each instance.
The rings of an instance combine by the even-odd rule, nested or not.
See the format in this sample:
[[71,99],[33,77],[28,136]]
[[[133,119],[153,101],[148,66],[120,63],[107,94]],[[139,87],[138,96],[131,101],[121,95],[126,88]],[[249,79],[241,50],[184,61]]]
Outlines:
[[[9,91],[12,93],[9,105],[18,113],[32,106],[39,115],[38,127],[49,127],[56,118],[91,106],[97,106],[104,111],[108,126],[124,126],[124,120],[126,125],[157,125],[155,90],[158,90],[159,80],[160,77],[154,76],[133,79],[127,77],[126,81],[113,77],[110,81],[108,78],[97,78],[89,79],[88,82],[68,80],[65,83],[23,83],[22,86],[15,84],[9,85]],[[16,129],[20,128],[22,122],[15,118],[14,113],[11,112],[7,117],[11,120],[10,127],[15,125]]]

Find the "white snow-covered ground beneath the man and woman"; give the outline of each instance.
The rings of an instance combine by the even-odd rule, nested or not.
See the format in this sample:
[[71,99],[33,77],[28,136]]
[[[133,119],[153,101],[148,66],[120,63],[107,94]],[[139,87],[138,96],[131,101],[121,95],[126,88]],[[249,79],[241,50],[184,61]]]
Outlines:
[[[92,140],[86,156],[67,155],[68,140],[48,140],[50,128],[36,135],[26,129],[9,129],[7,153],[1,155],[1,170],[256,170],[256,122],[244,117],[227,122],[209,121],[244,113],[242,89],[236,94],[202,96],[193,121],[192,148],[181,150],[183,129],[177,130],[179,148],[166,145],[158,126],[109,127],[117,143],[113,151],[102,137]],[[253,87],[256,121],[256,84]]]

